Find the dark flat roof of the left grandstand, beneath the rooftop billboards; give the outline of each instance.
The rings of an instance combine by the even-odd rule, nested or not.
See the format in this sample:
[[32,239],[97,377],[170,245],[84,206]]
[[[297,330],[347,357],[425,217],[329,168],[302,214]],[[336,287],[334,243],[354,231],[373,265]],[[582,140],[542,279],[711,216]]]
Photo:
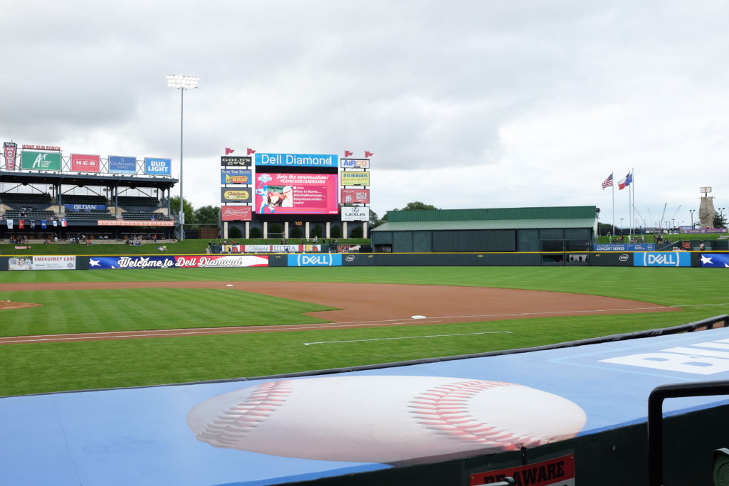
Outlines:
[[78,187],[155,187],[157,189],[168,189],[177,184],[177,179],[160,176],[132,176],[131,174],[109,174],[106,176],[98,174],[81,173],[59,173],[59,172],[19,172],[0,171],[0,183],[5,184],[62,184]]

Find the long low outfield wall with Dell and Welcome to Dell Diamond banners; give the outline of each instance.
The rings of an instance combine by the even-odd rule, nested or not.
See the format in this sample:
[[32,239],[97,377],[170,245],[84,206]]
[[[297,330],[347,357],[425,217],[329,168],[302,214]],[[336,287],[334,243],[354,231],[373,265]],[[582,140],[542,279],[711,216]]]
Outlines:
[[206,255],[12,255],[0,270],[117,270],[230,267],[720,267],[729,251],[507,253],[289,253]]

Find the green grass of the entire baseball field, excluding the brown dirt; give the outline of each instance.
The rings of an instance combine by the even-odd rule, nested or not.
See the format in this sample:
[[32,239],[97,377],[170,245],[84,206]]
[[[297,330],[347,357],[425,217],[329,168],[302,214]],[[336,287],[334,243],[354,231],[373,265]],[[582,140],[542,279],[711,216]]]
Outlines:
[[[0,395],[255,377],[526,348],[675,326],[729,313],[729,272],[701,268],[271,267],[0,273],[0,283],[192,280],[488,286],[635,299],[681,306],[682,311],[0,345]],[[244,292],[233,301],[229,294],[215,289],[0,292],[0,299],[44,303],[42,307],[0,311],[0,334],[260,325],[267,324],[272,313],[276,313],[277,324],[300,324],[314,321],[302,313],[324,308]],[[497,331],[511,334],[485,334]],[[327,343],[305,345],[311,342]]]

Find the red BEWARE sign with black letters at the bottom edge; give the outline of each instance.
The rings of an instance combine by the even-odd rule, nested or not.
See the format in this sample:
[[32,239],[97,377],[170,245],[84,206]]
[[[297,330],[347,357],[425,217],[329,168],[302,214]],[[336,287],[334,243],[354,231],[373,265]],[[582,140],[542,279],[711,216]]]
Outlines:
[[477,472],[471,474],[468,484],[488,485],[507,477],[512,477],[516,486],[574,486],[574,455],[498,471]]

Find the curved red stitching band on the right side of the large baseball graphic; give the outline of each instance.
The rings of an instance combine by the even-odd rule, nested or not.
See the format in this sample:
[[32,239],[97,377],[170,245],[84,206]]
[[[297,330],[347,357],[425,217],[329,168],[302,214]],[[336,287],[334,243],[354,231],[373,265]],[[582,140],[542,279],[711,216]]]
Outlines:
[[512,383],[474,380],[439,385],[411,400],[410,413],[430,431],[460,441],[496,446],[502,450],[539,444],[539,439],[511,434],[483,423],[469,413],[469,399],[482,391],[502,386],[512,386]]

